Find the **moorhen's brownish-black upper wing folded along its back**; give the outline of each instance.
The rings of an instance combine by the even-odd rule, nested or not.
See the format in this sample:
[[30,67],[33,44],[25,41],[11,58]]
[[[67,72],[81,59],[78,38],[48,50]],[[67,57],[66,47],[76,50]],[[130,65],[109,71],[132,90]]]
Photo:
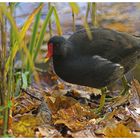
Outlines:
[[68,40],[73,42],[77,53],[100,55],[116,63],[137,50],[134,47],[137,46],[137,41],[128,34],[104,28],[92,28],[91,34],[92,40],[88,38],[86,30],[82,29]]

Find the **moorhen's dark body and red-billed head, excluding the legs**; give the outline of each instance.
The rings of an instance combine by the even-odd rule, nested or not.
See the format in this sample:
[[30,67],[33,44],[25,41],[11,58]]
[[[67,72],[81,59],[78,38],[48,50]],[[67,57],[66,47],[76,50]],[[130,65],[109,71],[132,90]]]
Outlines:
[[85,29],[67,40],[52,37],[47,57],[53,58],[54,70],[64,81],[102,88],[135,67],[140,57],[140,39],[105,28],[91,28],[90,31],[92,39]]

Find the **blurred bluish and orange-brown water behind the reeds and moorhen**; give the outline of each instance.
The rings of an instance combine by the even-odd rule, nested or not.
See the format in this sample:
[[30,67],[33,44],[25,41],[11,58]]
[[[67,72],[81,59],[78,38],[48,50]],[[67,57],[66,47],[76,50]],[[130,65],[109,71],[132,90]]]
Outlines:
[[[67,38],[73,33],[72,10],[68,3],[51,3],[55,5],[59,14],[63,35]],[[38,3],[19,3],[15,10],[15,19],[19,26],[22,26],[28,15],[33,9],[38,7]],[[87,3],[77,3],[79,13],[75,15],[76,30],[83,28],[82,18],[86,15]],[[41,15],[43,21],[48,11],[46,3]],[[127,32],[135,36],[140,36],[140,3],[96,3],[96,23],[99,27],[111,28],[117,31]],[[92,23],[88,16],[89,25]],[[57,34],[55,19],[52,16],[53,35]],[[29,36],[31,32],[27,33]],[[27,37],[28,38],[28,37]],[[49,39],[49,33],[45,34],[44,41]],[[42,50],[47,49],[46,44]],[[134,72],[129,76],[133,76],[140,80],[140,66],[138,65]]]

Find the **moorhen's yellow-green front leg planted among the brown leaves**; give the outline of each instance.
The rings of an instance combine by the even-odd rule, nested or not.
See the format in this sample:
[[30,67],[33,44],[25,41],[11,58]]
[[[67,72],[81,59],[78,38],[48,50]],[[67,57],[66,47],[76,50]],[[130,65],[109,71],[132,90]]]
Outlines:
[[107,88],[104,87],[104,88],[101,89],[101,91],[102,91],[102,95],[101,95],[101,98],[100,98],[100,105],[99,105],[99,108],[97,109],[97,113],[101,112],[104,105],[105,105],[105,97],[106,97]]

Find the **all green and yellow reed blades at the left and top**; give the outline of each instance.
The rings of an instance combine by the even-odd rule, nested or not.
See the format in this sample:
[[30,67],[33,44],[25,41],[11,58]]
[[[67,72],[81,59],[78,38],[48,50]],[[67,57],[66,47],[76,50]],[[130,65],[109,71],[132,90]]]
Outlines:
[[[3,135],[7,135],[8,129],[8,117],[9,117],[9,108],[12,106],[11,97],[17,96],[20,93],[20,89],[26,89],[29,86],[29,81],[31,74],[34,75],[35,79],[38,79],[36,76],[34,63],[38,56],[40,47],[43,43],[44,36],[46,33],[46,28],[49,26],[50,35],[52,35],[51,27],[51,16],[54,15],[57,33],[62,35],[62,29],[60,25],[59,15],[55,6],[49,4],[48,13],[43,22],[41,30],[39,30],[42,8],[44,3],[40,3],[39,6],[33,10],[33,12],[28,16],[27,20],[23,26],[19,29],[15,22],[14,12],[15,8],[20,6],[20,3],[0,3],[0,28],[1,28],[1,40],[2,40],[2,52],[0,52],[0,78],[2,77],[3,82],[0,83],[0,117],[3,119],[4,126]],[[72,9],[73,15],[73,29],[75,31],[75,14],[78,14],[80,8],[77,3],[69,3]],[[96,14],[95,6],[92,5],[94,9],[94,14]],[[91,4],[89,5],[91,7]],[[90,9],[90,8],[89,8]],[[88,16],[88,12],[87,15]],[[10,52],[9,56],[6,56],[7,53],[7,25],[6,21],[10,24]],[[32,35],[29,38],[29,45],[26,43],[26,32],[29,30],[30,26],[33,24]],[[85,20],[84,20],[85,21]],[[84,22],[85,28],[87,28],[87,33],[89,38],[91,38],[91,33],[88,27],[87,22]],[[39,33],[39,34],[38,34]],[[38,35],[37,35],[38,34]],[[9,46],[8,46],[9,47]],[[22,61],[22,68],[17,72],[14,68],[14,60],[16,54],[20,52],[21,55],[25,56],[26,59],[20,58]],[[3,62],[2,62],[3,61]],[[7,78],[8,77],[8,78]],[[2,113],[1,113],[2,112]],[[1,119],[0,118],[0,119]],[[1,134],[0,134],[1,135]]]

